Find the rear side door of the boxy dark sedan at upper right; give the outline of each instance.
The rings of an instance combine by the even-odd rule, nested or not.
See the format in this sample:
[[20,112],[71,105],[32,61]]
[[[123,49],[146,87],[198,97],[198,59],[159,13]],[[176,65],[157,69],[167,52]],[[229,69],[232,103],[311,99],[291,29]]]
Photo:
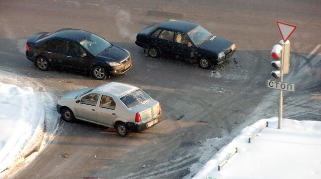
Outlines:
[[161,52],[172,53],[173,39],[174,31],[162,30],[158,37],[155,39],[155,42],[157,47],[161,50]]

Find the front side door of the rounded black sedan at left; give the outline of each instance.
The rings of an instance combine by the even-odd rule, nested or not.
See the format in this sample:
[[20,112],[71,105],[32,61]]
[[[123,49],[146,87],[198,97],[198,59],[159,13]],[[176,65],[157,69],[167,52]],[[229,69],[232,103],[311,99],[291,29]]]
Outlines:
[[67,59],[72,68],[88,71],[93,62],[92,56],[78,43],[68,41]]

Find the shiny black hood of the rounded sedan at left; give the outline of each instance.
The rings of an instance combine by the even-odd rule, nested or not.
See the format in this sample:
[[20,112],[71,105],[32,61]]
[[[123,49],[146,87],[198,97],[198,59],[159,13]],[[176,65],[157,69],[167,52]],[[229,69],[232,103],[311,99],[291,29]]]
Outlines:
[[120,62],[125,60],[129,55],[124,49],[113,45],[107,51],[97,55],[97,58],[100,60]]

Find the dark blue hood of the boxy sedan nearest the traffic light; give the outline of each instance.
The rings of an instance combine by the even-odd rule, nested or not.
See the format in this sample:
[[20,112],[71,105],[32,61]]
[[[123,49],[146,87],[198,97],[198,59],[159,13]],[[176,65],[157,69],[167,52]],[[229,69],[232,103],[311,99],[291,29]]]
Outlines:
[[230,40],[216,36],[213,40],[209,39],[201,43],[198,47],[219,54],[229,49],[232,45],[233,42],[231,42]]

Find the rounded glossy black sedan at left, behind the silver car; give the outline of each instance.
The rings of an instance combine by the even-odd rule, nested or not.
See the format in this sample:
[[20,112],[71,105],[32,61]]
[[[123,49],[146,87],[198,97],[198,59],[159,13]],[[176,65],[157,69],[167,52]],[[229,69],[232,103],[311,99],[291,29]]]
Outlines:
[[84,30],[40,32],[27,40],[26,49],[27,58],[40,70],[68,67],[90,72],[98,80],[125,73],[132,66],[127,50]]

